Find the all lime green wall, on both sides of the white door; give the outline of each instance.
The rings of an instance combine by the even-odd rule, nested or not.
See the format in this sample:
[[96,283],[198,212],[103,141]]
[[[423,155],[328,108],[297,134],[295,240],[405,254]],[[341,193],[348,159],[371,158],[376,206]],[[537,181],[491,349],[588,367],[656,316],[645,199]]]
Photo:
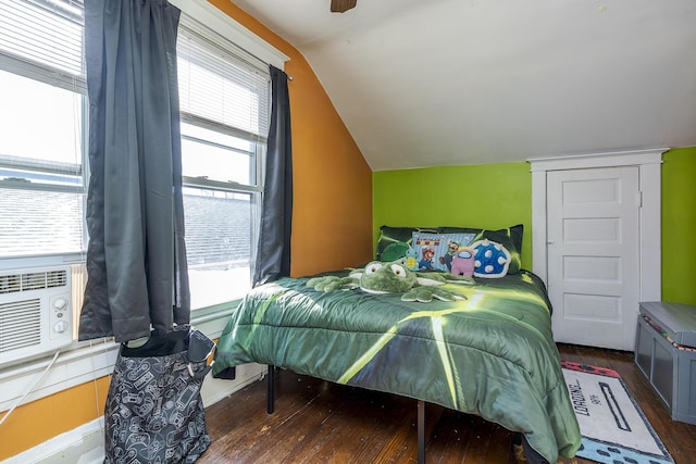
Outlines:
[[[662,300],[696,305],[696,147],[663,154]],[[380,226],[504,228],[524,225],[522,266],[532,268],[532,175],[527,163],[423,167],[372,174]]]

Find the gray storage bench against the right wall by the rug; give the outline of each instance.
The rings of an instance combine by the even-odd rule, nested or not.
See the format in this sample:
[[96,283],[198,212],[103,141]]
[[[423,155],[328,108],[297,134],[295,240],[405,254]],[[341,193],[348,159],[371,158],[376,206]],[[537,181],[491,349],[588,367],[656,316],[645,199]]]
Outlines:
[[696,308],[641,303],[634,361],[672,419],[696,424]]

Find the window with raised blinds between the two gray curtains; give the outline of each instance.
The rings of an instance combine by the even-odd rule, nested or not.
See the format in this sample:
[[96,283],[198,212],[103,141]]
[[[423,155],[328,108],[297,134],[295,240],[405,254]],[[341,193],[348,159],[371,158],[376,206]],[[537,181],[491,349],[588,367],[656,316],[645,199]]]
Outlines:
[[191,306],[251,286],[270,109],[266,64],[182,15],[177,39]]

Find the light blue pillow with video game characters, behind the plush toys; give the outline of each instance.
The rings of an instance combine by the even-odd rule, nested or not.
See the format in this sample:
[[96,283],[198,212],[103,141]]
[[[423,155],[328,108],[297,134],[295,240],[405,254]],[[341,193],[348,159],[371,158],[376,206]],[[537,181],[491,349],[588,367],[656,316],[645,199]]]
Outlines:
[[432,234],[414,231],[411,247],[415,250],[419,271],[451,272],[452,258],[459,247],[468,246],[475,234]]

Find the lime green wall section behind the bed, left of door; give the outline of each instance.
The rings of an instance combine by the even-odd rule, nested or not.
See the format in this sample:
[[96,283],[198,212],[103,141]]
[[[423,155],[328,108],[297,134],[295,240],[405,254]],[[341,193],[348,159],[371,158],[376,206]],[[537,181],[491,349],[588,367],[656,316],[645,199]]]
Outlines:
[[374,243],[382,225],[524,225],[522,267],[532,268],[532,174],[527,163],[438,166],[372,174]]

